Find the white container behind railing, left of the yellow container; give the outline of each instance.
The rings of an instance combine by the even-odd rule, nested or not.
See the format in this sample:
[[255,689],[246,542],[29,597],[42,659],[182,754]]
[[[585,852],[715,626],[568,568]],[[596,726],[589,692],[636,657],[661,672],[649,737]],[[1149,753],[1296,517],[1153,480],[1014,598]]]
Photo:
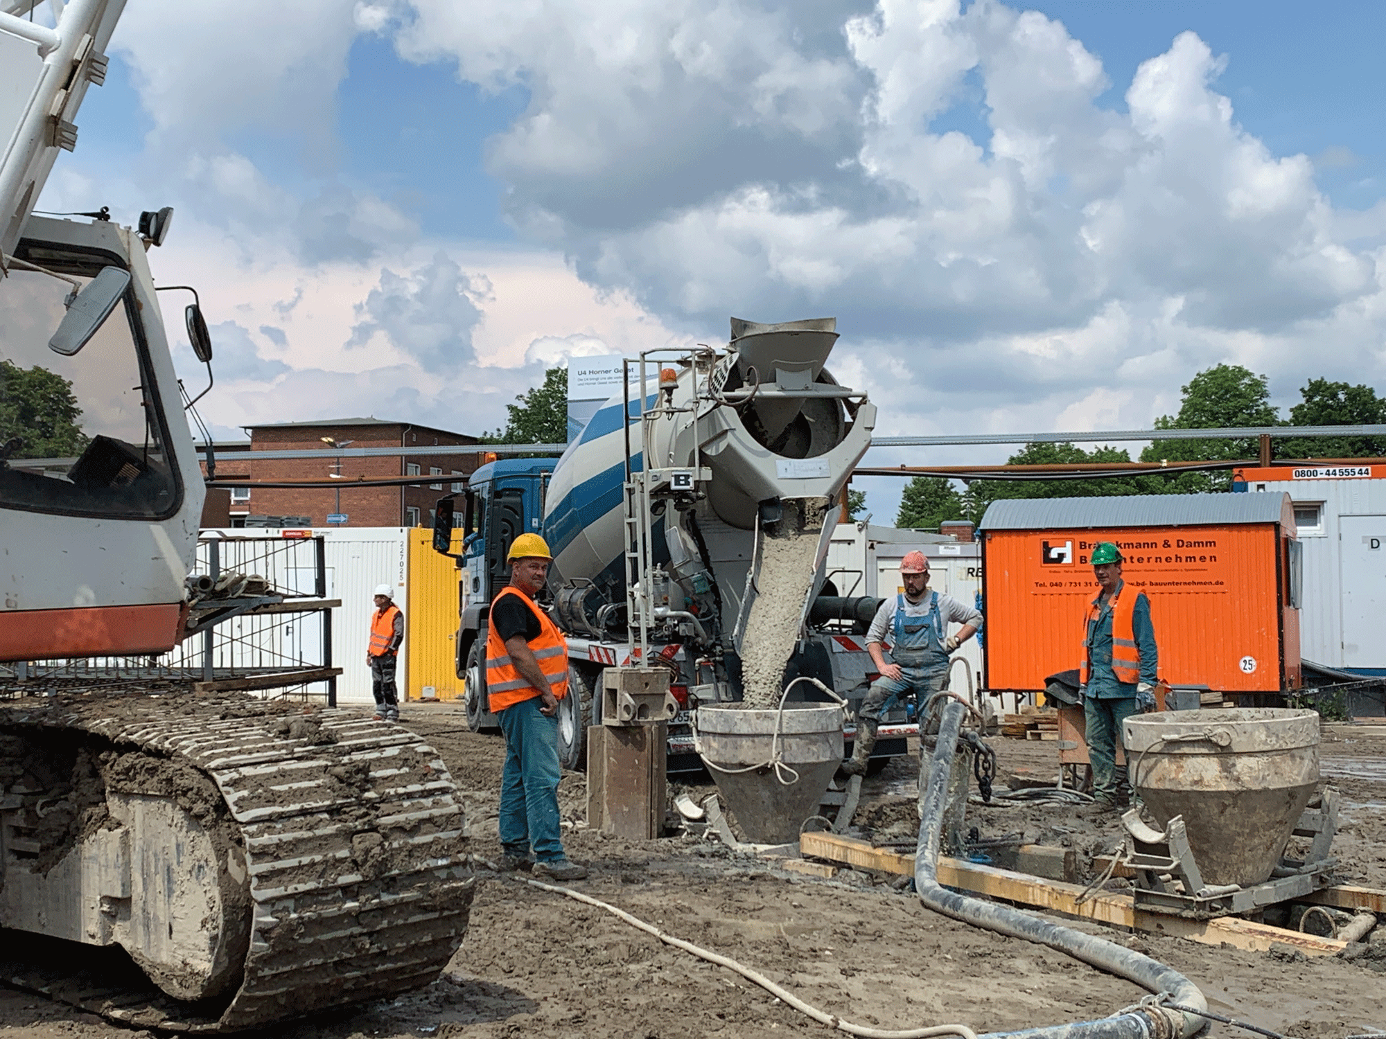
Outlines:
[[[306,528],[299,528],[306,529]],[[299,531],[291,531],[291,538]],[[327,571],[327,598],[340,598],[342,604],[333,610],[333,666],[341,668],[337,677],[338,704],[370,704],[370,669],[366,665],[366,648],[370,643],[370,615],[376,610],[373,593],[377,585],[389,585],[395,589],[395,605],[409,616],[409,529],[403,526],[346,526],[346,528],[313,528],[313,536],[323,536]],[[230,556],[234,539],[244,538],[283,538],[284,532],[276,528],[237,528],[202,531],[202,536],[220,535],[230,539],[226,554]],[[226,568],[233,568],[230,561]],[[295,564],[297,569],[302,564]],[[310,587],[309,575],[298,574],[263,574],[274,580],[280,587],[298,589],[301,585]],[[236,625],[237,619],[229,623]],[[298,623],[288,626],[288,633],[276,633],[277,644],[284,639],[302,639],[305,652],[309,647],[319,646],[322,639],[322,618],[305,614],[298,618]],[[407,640],[407,636],[406,636]],[[237,652],[248,658],[259,651],[254,639],[238,640]],[[399,650],[399,664],[395,682],[399,687],[401,698],[407,686],[409,658],[407,647]]]

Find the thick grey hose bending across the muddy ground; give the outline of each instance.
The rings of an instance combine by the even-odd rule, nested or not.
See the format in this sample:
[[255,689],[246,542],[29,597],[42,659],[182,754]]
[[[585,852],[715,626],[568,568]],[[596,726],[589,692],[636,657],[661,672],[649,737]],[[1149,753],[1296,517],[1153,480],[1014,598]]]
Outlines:
[[[1094,935],[1060,927],[1019,909],[984,902],[948,891],[938,882],[938,848],[948,774],[958,747],[958,733],[967,712],[965,704],[949,701],[944,705],[938,726],[938,743],[929,762],[929,790],[924,794],[924,815],[919,823],[919,844],[915,849],[915,889],[920,900],[937,913],[981,927],[1010,938],[1046,945],[1098,970],[1135,982],[1152,993],[1167,993],[1174,1003],[1191,1010],[1207,1010],[1207,1000],[1199,988],[1163,963],[1142,956]],[[1204,1027],[1196,1014],[1179,1014],[1149,1003],[1132,1007],[1099,1021],[1077,1021],[1021,1032],[992,1032],[983,1039],[1189,1039]]]

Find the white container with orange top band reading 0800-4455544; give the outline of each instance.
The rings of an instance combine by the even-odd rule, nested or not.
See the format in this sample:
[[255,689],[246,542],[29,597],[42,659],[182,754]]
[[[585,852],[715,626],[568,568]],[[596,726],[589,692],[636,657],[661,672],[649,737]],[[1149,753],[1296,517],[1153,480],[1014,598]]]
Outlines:
[[1245,468],[1249,493],[1288,493],[1303,546],[1300,655],[1386,675],[1386,465]]

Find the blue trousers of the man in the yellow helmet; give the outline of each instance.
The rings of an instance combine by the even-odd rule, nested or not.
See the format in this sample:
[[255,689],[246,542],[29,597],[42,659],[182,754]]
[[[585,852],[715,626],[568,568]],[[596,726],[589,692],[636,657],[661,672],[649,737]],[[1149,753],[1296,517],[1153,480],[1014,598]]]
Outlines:
[[559,719],[539,713],[539,697],[500,711],[506,767],[500,773],[500,844],[510,855],[564,859],[559,826]]

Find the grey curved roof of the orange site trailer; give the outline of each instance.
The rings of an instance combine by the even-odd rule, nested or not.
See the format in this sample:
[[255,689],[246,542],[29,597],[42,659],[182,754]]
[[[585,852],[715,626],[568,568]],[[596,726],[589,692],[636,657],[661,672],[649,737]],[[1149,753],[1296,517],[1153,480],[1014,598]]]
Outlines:
[[[1288,518],[1286,518],[1288,514]],[[1288,524],[1289,495],[1130,495],[1124,497],[1030,497],[992,501],[983,531],[1077,531],[1113,526],[1211,526]]]

